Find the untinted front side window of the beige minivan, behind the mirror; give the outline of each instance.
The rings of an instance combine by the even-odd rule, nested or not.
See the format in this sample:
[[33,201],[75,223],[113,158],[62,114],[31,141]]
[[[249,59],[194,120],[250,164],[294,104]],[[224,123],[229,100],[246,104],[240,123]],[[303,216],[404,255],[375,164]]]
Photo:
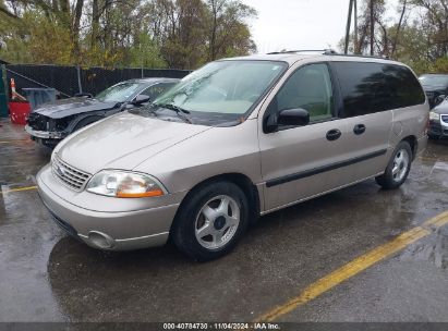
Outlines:
[[310,122],[332,118],[332,88],[328,66],[323,63],[296,70],[280,88],[269,106],[269,112],[302,108],[308,111]]

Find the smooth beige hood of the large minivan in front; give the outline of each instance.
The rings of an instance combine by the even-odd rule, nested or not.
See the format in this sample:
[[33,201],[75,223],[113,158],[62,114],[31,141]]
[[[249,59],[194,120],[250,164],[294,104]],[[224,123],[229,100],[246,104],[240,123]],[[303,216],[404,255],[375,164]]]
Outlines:
[[62,161],[90,174],[102,169],[132,170],[209,128],[123,112],[70,135],[55,152]]

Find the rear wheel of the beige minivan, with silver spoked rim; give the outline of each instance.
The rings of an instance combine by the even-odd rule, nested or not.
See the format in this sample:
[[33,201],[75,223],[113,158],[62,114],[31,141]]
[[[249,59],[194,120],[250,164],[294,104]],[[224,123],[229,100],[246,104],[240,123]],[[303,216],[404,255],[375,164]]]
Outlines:
[[385,189],[400,187],[408,179],[412,163],[412,150],[408,142],[398,144],[384,174],[375,177],[376,183]]

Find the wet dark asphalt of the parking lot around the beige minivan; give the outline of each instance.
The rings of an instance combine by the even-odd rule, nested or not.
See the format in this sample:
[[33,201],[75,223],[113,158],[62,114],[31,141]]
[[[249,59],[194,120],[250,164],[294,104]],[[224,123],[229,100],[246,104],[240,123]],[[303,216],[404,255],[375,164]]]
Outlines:
[[[0,122],[0,185],[34,184],[50,152]],[[35,189],[0,195],[0,321],[251,321],[355,257],[448,210],[448,143],[399,189],[375,181],[263,217],[196,263],[171,245],[104,253],[66,237]],[[448,225],[279,321],[448,322]]]

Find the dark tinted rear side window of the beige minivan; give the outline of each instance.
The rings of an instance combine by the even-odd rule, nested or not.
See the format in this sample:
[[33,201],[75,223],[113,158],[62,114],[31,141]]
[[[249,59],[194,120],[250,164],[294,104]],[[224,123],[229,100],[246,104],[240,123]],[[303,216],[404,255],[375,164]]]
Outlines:
[[425,102],[422,87],[405,68],[383,63],[335,62],[346,118]]

